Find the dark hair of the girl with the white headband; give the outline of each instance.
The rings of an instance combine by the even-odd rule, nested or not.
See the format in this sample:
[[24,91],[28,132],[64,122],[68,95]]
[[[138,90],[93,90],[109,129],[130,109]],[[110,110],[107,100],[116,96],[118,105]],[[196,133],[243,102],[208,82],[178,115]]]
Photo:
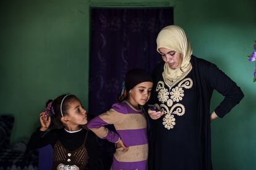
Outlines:
[[[48,105],[49,102],[52,102],[51,117],[53,118],[55,127],[63,127],[63,124],[61,122],[61,118],[62,118],[61,110],[62,110],[63,116],[68,115],[69,113],[67,113],[67,110],[69,109],[69,102],[73,100],[78,100],[80,102],[80,100],[75,95],[73,94],[69,94],[67,96],[66,95],[67,94],[62,94],[56,99],[48,100],[48,102],[46,102],[46,105]],[[65,99],[63,100],[64,97]],[[62,102],[62,107],[61,107],[61,102]]]

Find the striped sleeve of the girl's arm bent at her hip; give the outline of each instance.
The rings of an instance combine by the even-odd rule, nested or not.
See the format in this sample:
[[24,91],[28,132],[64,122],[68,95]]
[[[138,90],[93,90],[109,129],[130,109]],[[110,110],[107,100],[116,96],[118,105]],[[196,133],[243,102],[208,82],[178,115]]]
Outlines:
[[93,118],[87,124],[87,127],[101,139],[107,139],[109,142],[116,143],[119,140],[119,135],[116,132],[109,130],[105,126],[116,123],[118,119],[119,115],[117,111],[111,108],[111,110],[106,111],[106,113]]

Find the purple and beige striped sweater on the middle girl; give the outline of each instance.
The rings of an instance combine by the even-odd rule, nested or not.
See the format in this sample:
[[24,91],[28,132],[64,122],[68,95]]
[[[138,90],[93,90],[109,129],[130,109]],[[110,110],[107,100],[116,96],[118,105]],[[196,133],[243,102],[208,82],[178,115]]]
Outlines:
[[[105,127],[114,124],[117,133]],[[119,137],[126,147],[117,148],[114,153],[113,170],[145,170],[148,160],[147,121],[141,110],[136,110],[128,102],[115,103],[109,111],[92,119],[87,127],[101,139],[117,142]]]

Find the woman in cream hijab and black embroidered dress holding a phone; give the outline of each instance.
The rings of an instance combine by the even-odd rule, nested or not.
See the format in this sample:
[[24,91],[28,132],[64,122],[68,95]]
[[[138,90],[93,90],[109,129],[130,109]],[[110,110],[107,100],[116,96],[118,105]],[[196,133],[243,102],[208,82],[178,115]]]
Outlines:
[[[244,97],[216,65],[192,55],[186,33],[166,26],[156,39],[163,61],[153,71],[149,169],[212,169],[210,122]],[[224,95],[210,114],[213,89]]]

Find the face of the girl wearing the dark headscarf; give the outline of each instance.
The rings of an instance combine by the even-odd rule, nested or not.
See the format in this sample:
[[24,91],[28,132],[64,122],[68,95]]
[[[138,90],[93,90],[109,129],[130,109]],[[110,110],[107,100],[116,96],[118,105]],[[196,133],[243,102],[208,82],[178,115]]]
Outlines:
[[150,99],[151,89],[153,83],[150,81],[145,81],[137,84],[129,91],[128,101],[135,107],[138,108],[139,105],[145,105]]

